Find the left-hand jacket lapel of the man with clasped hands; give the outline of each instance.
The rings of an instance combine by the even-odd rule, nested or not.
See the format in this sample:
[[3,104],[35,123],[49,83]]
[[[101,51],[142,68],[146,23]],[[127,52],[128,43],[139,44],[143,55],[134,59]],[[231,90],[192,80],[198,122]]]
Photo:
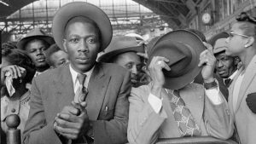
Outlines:
[[69,65],[63,66],[55,77],[57,77],[53,78],[56,95],[55,102],[61,110],[63,107],[71,105],[71,101],[73,101],[74,98],[73,80]]

